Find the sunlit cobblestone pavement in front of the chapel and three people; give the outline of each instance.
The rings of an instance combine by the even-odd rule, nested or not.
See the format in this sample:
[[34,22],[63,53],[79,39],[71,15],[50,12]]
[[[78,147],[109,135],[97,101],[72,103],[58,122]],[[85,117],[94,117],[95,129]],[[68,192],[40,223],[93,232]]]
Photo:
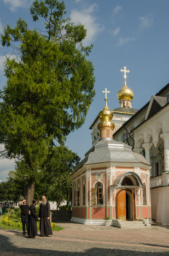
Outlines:
[[51,237],[28,239],[19,230],[0,229],[0,256],[169,256],[169,227],[117,229],[112,226],[56,223]]

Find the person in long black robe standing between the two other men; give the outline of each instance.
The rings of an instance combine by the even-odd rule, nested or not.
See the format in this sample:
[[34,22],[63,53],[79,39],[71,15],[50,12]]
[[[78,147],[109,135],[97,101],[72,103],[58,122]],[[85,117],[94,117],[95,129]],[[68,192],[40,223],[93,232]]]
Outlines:
[[37,204],[37,200],[33,199],[32,200],[32,205],[30,206],[30,220],[29,220],[29,228],[28,228],[28,236],[29,238],[35,238],[38,236],[38,231],[37,231],[37,223],[36,220],[40,220],[38,215],[36,214],[36,207],[35,205]]

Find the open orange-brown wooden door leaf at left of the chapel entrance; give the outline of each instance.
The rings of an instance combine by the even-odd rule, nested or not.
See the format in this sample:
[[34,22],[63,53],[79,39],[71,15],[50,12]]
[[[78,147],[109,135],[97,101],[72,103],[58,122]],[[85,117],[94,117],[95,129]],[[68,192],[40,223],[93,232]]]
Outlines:
[[126,220],[126,190],[122,190],[116,197],[117,218]]

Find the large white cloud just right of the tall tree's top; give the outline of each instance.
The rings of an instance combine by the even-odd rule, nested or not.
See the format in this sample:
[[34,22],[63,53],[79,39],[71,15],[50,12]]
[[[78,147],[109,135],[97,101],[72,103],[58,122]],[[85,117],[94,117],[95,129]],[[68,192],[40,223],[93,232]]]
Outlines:
[[82,9],[81,11],[73,10],[70,14],[70,18],[75,24],[81,22],[87,29],[86,38],[83,40],[85,46],[93,43],[95,37],[103,29],[103,26],[96,22],[96,17],[93,12],[98,8],[97,4],[91,4],[87,9]]

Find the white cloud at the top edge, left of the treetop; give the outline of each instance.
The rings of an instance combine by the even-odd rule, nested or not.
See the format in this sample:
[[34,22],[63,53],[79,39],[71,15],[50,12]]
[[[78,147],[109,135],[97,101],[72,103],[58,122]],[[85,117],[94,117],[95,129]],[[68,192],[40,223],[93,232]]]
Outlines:
[[19,7],[28,7],[33,0],[3,0],[6,6],[9,6],[11,12],[17,11]]

